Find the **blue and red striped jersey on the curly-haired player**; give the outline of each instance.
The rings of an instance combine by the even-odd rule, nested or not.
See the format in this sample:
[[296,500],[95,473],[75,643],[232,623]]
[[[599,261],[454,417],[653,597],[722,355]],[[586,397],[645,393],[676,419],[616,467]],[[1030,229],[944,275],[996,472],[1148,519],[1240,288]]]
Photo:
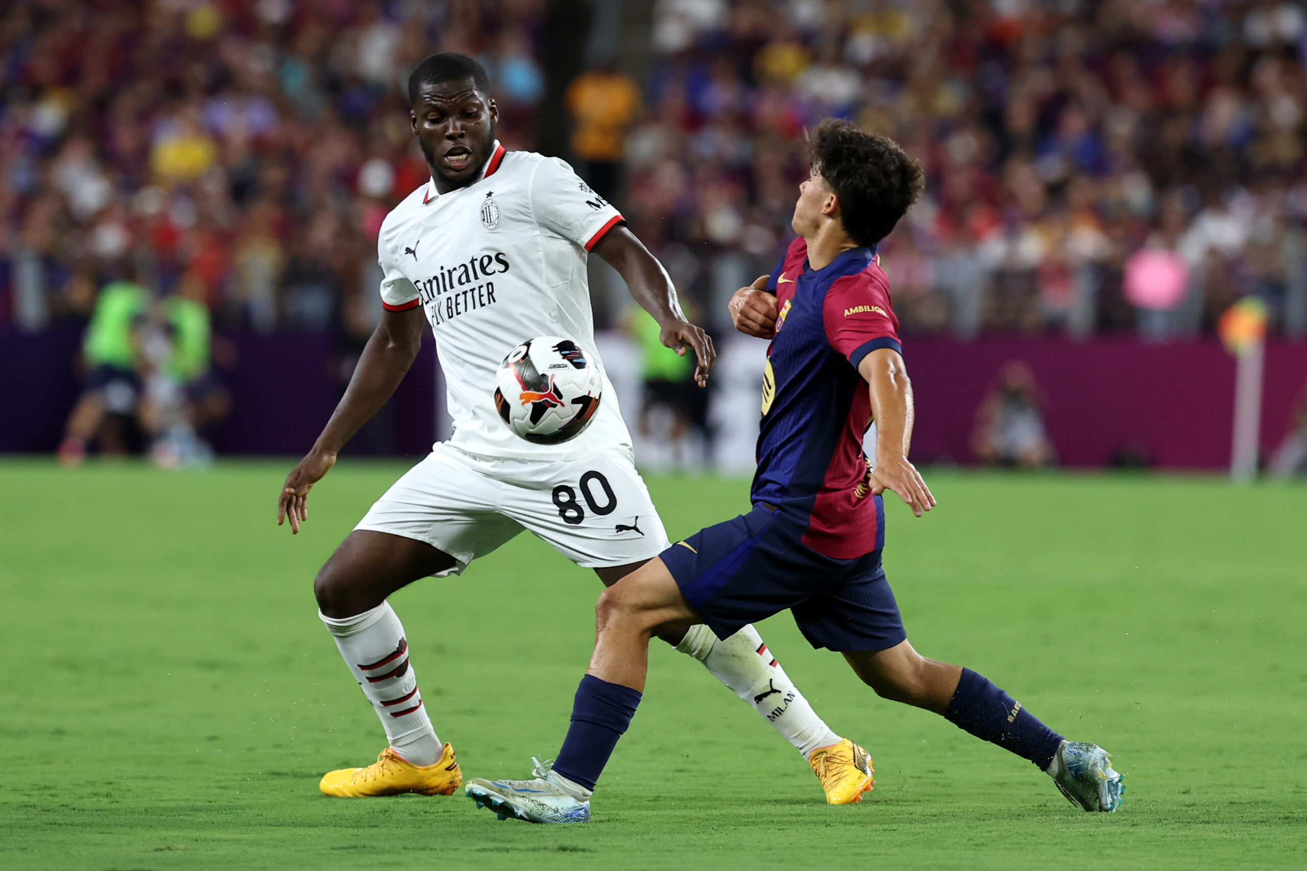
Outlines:
[[813,269],[808,244],[795,239],[767,290],[780,315],[763,372],[753,501],[802,517],[802,542],[819,554],[869,554],[885,545],[885,507],[870,495],[863,436],[872,402],[857,364],[881,347],[903,350],[889,282],[874,248]]

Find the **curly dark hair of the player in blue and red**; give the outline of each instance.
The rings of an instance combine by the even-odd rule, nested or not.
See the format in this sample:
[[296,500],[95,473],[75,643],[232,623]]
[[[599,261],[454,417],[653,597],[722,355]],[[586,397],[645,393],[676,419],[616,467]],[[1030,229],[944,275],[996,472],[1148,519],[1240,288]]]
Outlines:
[[921,196],[921,166],[887,136],[827,118],[808,136],[808,162],[835,196],[848,238],[874,245]]

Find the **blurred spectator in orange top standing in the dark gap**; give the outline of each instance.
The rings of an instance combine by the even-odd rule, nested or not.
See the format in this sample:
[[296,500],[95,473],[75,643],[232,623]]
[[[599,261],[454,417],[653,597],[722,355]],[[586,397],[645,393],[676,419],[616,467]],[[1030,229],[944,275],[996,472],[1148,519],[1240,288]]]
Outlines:
[[626,128],[640,107],[640,91],[609,60],[578,76],[567,87],[567,111],[575,123],[572,151],[583,161],[582,176],[605,200],[617,195]]

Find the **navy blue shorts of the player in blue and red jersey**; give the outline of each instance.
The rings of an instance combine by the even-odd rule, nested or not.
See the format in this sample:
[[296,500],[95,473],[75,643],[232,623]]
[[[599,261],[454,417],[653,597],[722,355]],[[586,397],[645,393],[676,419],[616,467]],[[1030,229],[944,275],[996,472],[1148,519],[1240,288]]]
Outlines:
[[885,650],[907,639],[881,551],[833,559],[804,545],[802,534],[801,521],[759,503],[660,556],[719,639],[786,609],[814,648]]

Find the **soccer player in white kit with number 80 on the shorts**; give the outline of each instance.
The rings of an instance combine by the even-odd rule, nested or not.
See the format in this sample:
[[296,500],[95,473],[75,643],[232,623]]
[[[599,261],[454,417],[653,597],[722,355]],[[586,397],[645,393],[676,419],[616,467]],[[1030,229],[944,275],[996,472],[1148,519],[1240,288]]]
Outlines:
[[[605,585],[669,545],[606,376],[595,419],[563,444],[518,437],[494,407],[495,373],[514,346],[563,336],[595,353],[588,252],[621,273],[663,326],[665,345],[695,354],[701,385],[714,359],[711,340],[685,320],[667,273],[622,215],[563,161],[499,145],[498,110],[476,60],[427,57],[409,78],[409,102],[431,180],[382,223],[386,311],[331,420],[286,477],[277,508],[277,524],[289,517],[298,533],[308,490],[393,393],[429,321],[454,435],[372,505],[314,582],[319,616],[389,740],[376,763],[323,777],[322,791],[336,797],[450,795],[463,781],[454,750],[431,726],[387,595],[421,577],[459,575],[523,529],[593,568]],[[865,757],[813,712],[752,626],[725,641],[703,626],[665,640],[802,752],[829,802],[859,800],[870,787]]]

